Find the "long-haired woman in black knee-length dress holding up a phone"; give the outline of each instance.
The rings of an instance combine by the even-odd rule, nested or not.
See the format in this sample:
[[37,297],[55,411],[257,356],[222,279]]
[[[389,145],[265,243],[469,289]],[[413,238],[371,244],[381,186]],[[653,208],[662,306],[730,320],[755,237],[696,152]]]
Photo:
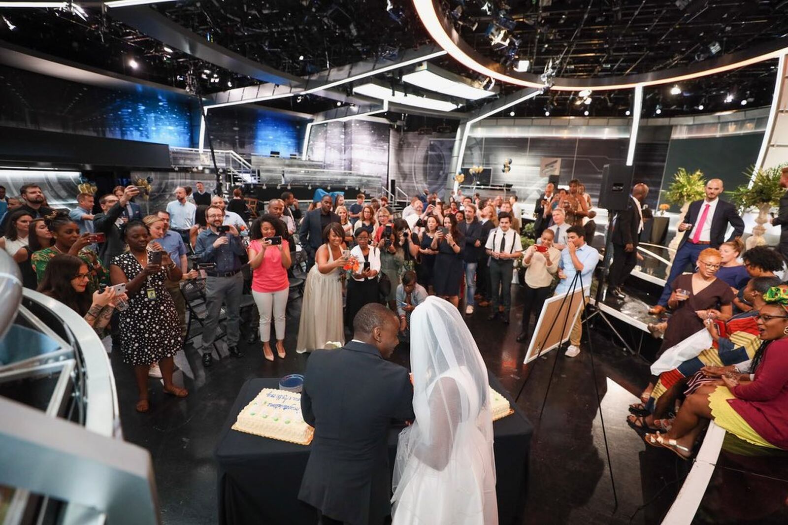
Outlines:
[[457,228],[454,214],[444,217],[443,228],[433,238],[430,249],[438,252],[435,258],[433,285],[435,294],[459,307],[459,284],[463,279],[463,246],[465,239]]

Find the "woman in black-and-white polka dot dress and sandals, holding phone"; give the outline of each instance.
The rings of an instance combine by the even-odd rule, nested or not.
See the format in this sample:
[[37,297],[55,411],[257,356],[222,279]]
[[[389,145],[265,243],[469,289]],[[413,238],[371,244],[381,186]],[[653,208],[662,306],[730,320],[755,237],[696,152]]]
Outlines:
[[181,349],[180,320],[172,296],[164,286],[165,277],[180,281],[181,272],[166,251],[162,263],[149,263],[154,253],[147,250],[151,233],[143,222],[125,225],[128,251],[117,255],[110,266],[112,284],[126,284],[128,308],[121,312],[121,352],[123,362],[134,366],[139,401],[136,409],[148,411],[147,378],[151,363],[162,370],[164,392],[176,397],[188,391],[173,385],[173,356]]

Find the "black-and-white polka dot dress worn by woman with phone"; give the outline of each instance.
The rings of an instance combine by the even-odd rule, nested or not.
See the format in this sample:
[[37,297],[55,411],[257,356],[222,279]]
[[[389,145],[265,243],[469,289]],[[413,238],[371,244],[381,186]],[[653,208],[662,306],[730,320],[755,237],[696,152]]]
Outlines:
[[[123,270],[129,281],[143,271],[130,251],[117,255],[112,263]],[[126,364],[149,365],[174,356],[183,348],[178,312],[164,286],[166,275],[167,270],[162,268],[148,277],[135,294],[128,296],[128,308],[121,311],[121,352]],[[151,288],[156,292],[154,300],[147,298],[147,290]]]

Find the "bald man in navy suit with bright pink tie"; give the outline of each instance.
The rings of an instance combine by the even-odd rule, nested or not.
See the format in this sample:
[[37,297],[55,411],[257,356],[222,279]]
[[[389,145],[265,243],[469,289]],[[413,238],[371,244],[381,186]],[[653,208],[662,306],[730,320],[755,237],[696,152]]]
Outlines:
[[665,311],[667,300],[671,296],[671,284],[675,278],[682,274],[686,266],[695,266],[698,254],[705,248],[719,248],[719,245],[725,242],[725,231],[729,224],[733,226],[734,233],[728,240],[740,237],[744,233],[744,221],[737,213],[736,207],[719,199],[718,195],[723,189],[723,181],[712,179],[706,183],[706,198],[696,200],[689,205],[687,214],[678,225],[678,231],[684,232],[684,236],[678,243],[671,274],[667,277],[659,302],[649,310],[649,314],[660,315]]

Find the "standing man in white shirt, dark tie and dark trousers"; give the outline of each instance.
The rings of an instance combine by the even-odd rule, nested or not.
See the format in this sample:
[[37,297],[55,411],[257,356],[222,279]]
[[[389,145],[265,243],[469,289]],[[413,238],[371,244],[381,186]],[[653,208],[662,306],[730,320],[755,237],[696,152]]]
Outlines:
[[519,233],[511,229],[511,215],[498,216],[498,227],[489,233],[485,251],[490,256],[489,272],[492,286],[492,313],[488,321],[498,317],[499,305],[504,307],[502,321],[509,324],[511,310],[511,276],[514,273],[515,259],[522,255],[522,240]]

